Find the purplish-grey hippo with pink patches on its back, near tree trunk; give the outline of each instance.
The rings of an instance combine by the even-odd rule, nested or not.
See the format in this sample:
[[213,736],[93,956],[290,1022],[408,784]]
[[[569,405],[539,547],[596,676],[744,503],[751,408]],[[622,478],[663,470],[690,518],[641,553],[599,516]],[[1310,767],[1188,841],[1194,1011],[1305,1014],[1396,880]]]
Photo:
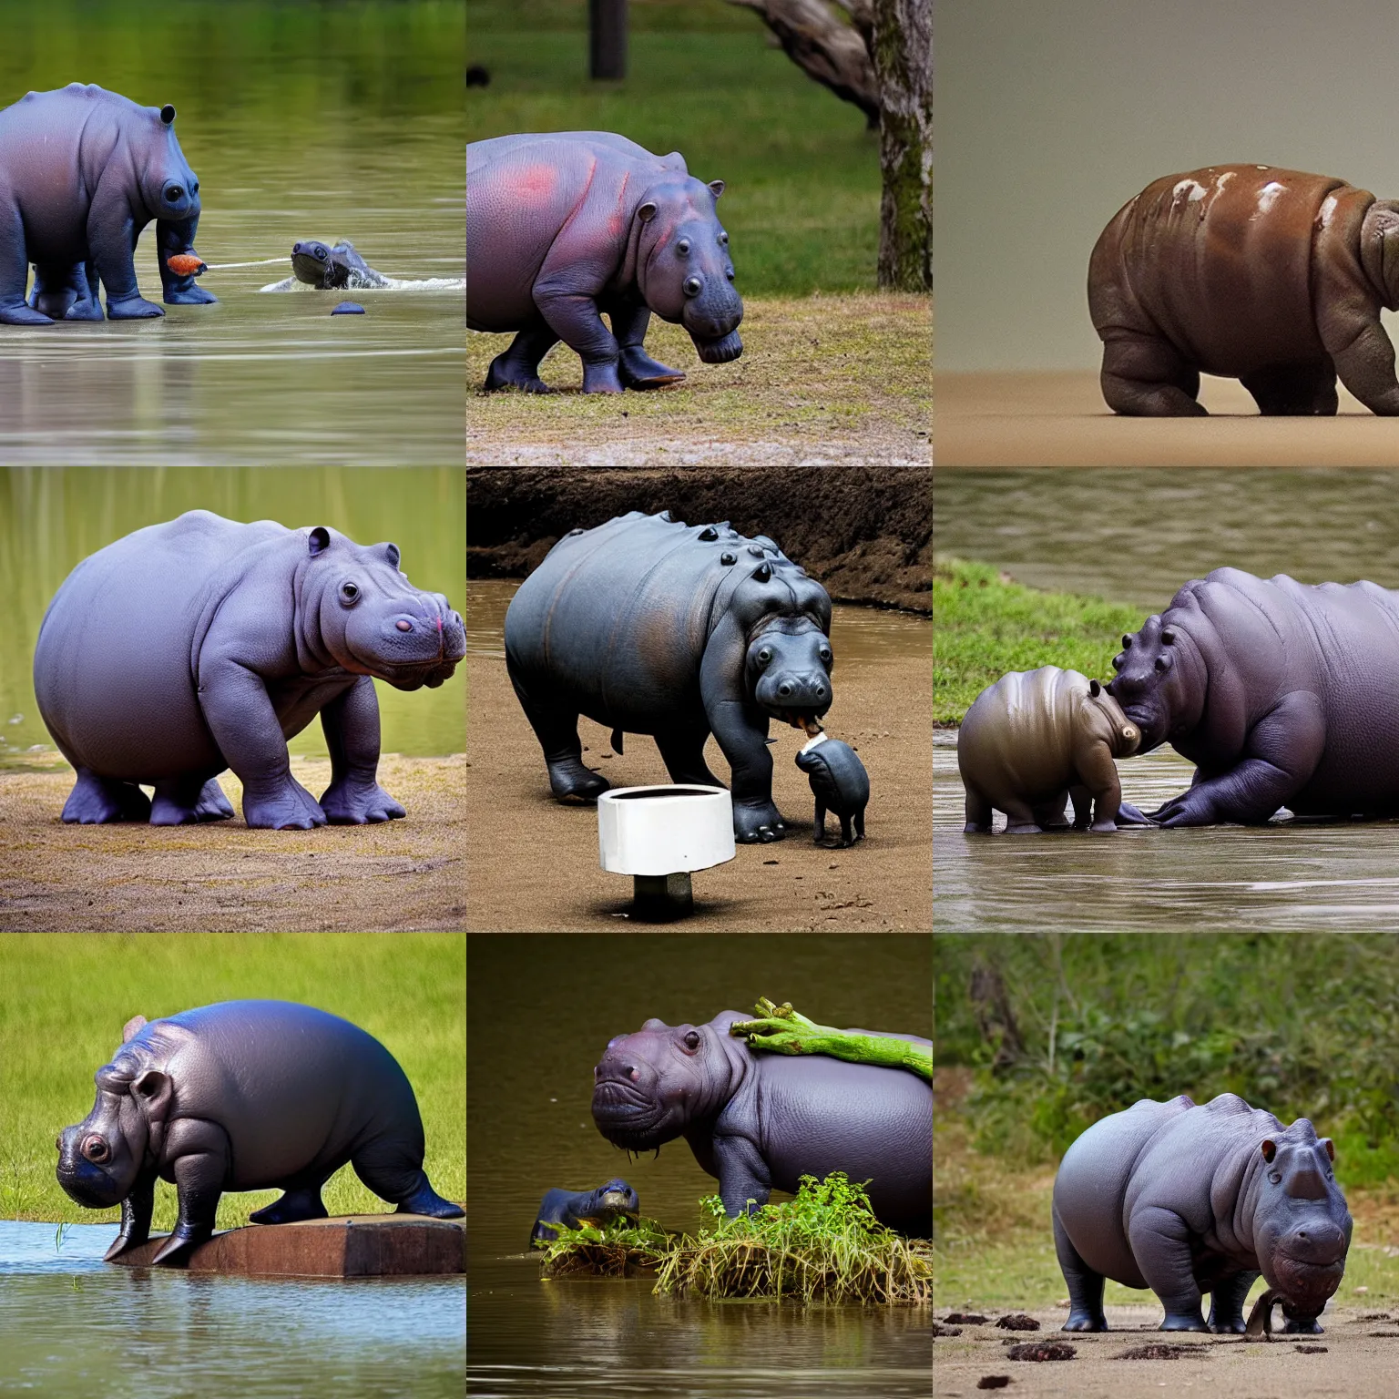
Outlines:
[[[466,323],[518,332],[487,389],[547,393],[539,364],[562,340],[585,393],[684,375],[646,354],[651,313],[683,325],[705,364],[743,353],[729,235],[679,151],[607,132],[499,136],[466,148]],[[606,312],[611,330],[602,322]]]

